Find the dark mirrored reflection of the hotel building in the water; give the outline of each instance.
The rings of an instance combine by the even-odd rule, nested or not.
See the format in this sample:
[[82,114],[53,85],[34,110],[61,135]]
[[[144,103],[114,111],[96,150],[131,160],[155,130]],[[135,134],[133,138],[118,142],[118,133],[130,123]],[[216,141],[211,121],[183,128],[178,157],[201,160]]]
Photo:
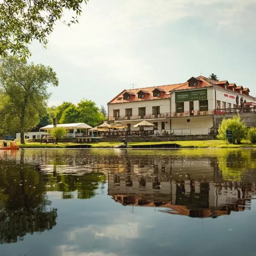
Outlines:
[[217,217],[250,209],[255,183],[215,182],[206,179],[174,179],[154,176],[110,174],[108,195],[123,205],[160,207],[170,214]]

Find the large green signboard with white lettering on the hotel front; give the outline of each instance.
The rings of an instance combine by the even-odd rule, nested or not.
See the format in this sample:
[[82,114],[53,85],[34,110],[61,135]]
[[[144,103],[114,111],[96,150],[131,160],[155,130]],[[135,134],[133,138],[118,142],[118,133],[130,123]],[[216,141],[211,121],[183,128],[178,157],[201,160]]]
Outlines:
[[194,101],[207,99],[207,89],[191,90],[175,93],[175,102]]

